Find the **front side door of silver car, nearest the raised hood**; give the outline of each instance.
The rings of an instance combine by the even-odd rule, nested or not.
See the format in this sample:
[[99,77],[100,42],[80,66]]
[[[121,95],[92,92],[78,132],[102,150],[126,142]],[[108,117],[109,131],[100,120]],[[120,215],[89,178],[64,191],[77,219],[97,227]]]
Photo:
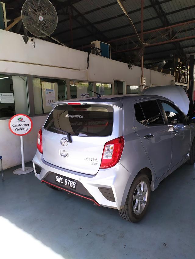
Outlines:
[[185,115],[176,105],[171,102],[161,100],[167,123],[172,132],[172,160],[174,167],[185,159],[190,150],[190,127],[186,124]]

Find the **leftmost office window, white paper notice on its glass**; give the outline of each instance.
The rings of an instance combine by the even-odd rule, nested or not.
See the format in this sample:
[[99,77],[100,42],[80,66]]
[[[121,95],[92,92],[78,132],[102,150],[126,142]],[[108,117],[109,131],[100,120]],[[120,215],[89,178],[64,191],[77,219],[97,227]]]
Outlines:
[[29,114],[26,77],[0,75],[0,118]]

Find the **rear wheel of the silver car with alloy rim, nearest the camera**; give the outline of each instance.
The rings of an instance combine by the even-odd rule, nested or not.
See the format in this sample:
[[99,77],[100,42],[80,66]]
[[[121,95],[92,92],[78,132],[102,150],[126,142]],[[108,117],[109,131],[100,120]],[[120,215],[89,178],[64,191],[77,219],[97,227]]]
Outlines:
[[[144,186],[143,188],[144,191],[141,190],[142,183]],[[145,216],[147,207],[149,204],[149,200],[150,200],[150,181],[145,174],[140,174],[134,179],[129,189],[129,193],[128,193],[125,205],[121,210],[119,210],[120,216],[124,220],[137,223]]]

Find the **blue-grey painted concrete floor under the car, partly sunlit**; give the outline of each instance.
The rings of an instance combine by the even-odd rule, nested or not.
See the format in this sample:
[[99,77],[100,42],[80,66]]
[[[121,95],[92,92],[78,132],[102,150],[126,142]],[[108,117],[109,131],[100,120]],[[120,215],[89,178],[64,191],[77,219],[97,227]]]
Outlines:
[[18,167],[0,177],[2,259],[195,258],[195,167],[183,165],[161,182],[138,224],[52,190],[34,172],[14,175]]

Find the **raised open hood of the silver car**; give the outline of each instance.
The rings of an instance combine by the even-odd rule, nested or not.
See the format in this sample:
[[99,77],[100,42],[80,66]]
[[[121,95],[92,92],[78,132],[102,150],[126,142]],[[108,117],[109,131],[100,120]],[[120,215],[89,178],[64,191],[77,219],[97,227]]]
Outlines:
[[181,86],[163,85],[145,89],[143,95],[159,95],[174,102],[185,114],[188,114],[190,100]]

